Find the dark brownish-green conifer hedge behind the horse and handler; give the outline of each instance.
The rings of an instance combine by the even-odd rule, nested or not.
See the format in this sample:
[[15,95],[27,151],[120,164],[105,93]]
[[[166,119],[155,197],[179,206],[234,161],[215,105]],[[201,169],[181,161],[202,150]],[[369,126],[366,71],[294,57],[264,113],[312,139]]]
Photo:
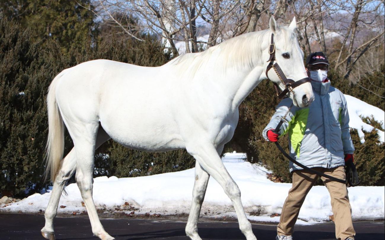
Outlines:
[[[94,59],[152,67],[171,59],[154,38],[147,37],[144,42],[116,39],[112,36],[95,42],[95,36],[90,35],[81,45],[71,45],[63,54],[59,41],[47,40],[44,45],[34,42],[30,30],[0,16],[0,196],[23,197],[40,192],[49,184],[42,178],[47,139],[45,97],[57,73]],[[383,75],[382,66],[381,71],[368,74],[360,83],[363,87],[375,83],[383,88]],[[330,77],[342,92],[384,109],[383,98],[368,95],[362,87],[350,84],[334,72]],[[245,152],[250,162],[263,163],[277,177],[291,182],[288,160],[261,135],[278,102],[273,85],[268,80],[260,83],[240,105],[239,123],[225,151]],[[366,121],[373,123],[372,119]],[[384,144],[378,142],[374,131],[365,133],[364,144],[360,143],[357,132],[352,131],[352,137],[362,185],[384,185]],[[281,139],[281,145],[287,146],[287,137]],[[72,147],[67,133],[65,154]],[[139,152],[109,140],[95,153],[94,177],[144,176],[180,171],[194,164],[195,160],[185,150]]]

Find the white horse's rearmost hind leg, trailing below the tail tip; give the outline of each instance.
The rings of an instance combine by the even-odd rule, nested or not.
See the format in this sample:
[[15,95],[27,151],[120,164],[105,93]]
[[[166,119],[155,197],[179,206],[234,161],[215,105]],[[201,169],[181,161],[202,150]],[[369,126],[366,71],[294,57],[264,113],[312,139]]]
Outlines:
[[[102,143],[109,140],[110,137],[105,133],[104,129],[99,127],[97,138],[96,138],[96,148],[100,147]],[[41,232],[43,237],[49,240],[55,240],[54,234],[54,225],[53,221],[57,213],[57,206],[59,205],[59,200],[61,193],[63,191],[64,185],[69,180],[76,170],[76,153],[75,149],[72,150],[65,156],[62,160],[60,170],[55,178],[54,186],[52,188],[51,196],[48,202],[48,206],[45,210],[45,225],[42,228]]]

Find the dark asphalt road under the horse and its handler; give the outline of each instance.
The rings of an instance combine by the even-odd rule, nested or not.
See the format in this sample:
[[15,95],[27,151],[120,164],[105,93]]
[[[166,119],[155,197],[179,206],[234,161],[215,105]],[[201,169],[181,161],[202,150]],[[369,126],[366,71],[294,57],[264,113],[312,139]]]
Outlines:
[[[105,230],[117,240],[188,240],[184,234],[185,222],[160,219],[101,219]],[[87,216],[56,217],[55,234],[57,240],[97,240],[92,235]],[[43,240],[40,229],[44,226],[44,216],[35,214],[0,213],[0,240]],[[357,240],[385,239],[384,221],[355,222]],[[238,223],[202,222],[198,224],[203,240],[245,239]],[[253,232],[258,240],[274,240],[274,225],[253,224]],[[332,240],[334,223],[311,226],[297,226],[295,240]]]

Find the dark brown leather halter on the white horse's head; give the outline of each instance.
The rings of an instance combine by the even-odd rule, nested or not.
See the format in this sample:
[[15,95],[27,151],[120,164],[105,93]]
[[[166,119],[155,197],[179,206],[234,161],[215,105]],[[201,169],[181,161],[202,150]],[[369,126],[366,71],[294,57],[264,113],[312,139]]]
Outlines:
[[293,88],[296,88],[303,83],[310,82],[310,78],[308,78],[308,77],[302,78],[301,80],[298,80],[296,82],[293,79],[286,78],[285,74],[283,74],[282,69],[280,68],[278,63],[274,63],[274,61],[276,61],[276,59],[275,59],[275,44],[274,44],[274,34],[273,33],[271,33],[271,43],[269,45],[269,54],[270,54],[270,58],[268,60],[269,65],[266,68],[266,77],[270,80],[267,73],[269,72],[269,70],[271,68],[273,68],[275,73],[278,75],[278,78],[280,78],[281,82],[285,85],[285,89],[281,90],[280,87],[278,86],[278,84],[273,82],[278,98],[287,97],[288,92],[292,92],[294,95]]

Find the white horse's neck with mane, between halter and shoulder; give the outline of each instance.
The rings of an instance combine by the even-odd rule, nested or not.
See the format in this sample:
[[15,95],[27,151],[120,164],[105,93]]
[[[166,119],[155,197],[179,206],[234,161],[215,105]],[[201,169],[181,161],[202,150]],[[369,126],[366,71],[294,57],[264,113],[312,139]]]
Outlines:
[[167,69],[175,69],[177,81],[215,95],[218,104],[235,110],[260,82],[264,63],[261,48],[266,44],[261,32],[239,36],[205,52],[182,55],[167,64],[171,67]]

